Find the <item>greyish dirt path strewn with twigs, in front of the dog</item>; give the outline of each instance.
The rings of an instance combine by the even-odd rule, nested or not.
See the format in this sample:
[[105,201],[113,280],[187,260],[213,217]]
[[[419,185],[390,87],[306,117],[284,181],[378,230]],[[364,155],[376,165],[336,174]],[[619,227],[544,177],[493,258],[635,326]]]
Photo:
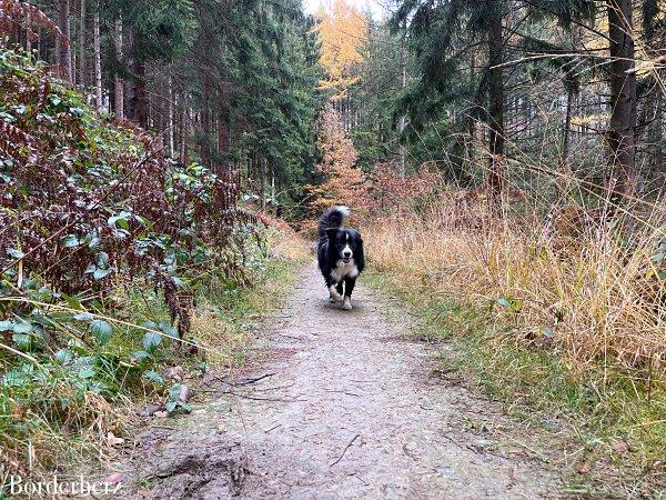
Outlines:
[[362,281],[355,309],[342,311],[316,268],[304,269],[262,332],[269,361],[176,431],[147,431],[124,464],[137,480],[125,496],[552,497],[549,473],[470,423],[501,412],[434,379],[433,353]]

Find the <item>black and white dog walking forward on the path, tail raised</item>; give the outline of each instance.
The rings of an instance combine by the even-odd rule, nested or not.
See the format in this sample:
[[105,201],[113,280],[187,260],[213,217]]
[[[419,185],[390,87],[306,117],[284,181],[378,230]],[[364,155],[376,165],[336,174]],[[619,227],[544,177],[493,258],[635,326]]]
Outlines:
[[361,234],[355,229],[341,229],[349,216],[346,207],[333,207],[322,216],[316,251],[331,301],[342,301],[342,309],[346,310],[352,309],[352,291],[365,268]]

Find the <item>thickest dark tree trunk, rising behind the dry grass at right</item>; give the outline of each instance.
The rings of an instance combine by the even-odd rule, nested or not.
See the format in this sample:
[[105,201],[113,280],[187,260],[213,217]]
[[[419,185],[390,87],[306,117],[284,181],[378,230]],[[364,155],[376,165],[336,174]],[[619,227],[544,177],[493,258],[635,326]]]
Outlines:
[[606,0],[610,38],[609,216],[636,183],[636,73],[632,0]]

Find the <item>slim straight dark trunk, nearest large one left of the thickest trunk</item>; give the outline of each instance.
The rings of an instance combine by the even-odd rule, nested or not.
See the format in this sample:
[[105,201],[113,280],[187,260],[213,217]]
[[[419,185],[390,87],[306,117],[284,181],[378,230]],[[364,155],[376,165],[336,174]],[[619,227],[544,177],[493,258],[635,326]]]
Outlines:
[[502,197],[504,187],[505,141],[504,141],[504,80],[502,67],[502,11],[501,6],[486,0],[490,16],[488,33],[488,98],[490,98],[490,150],[488,164],[488,199],[494,210]]

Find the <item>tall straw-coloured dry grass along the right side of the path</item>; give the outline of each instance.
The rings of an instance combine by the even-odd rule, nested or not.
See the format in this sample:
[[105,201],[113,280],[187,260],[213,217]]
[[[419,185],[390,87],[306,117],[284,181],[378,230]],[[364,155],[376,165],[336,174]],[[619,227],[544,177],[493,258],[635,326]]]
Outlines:
[[551,231],[524,210],[488,220],[483,201],[461,204],[444,193],[375,221],[364,240],[372,266],[397,287],[487,308],[516,342],[556,350],[575,369],[664,380],[663,213],[653,210],[630,231],[586,226],[566,210]]

